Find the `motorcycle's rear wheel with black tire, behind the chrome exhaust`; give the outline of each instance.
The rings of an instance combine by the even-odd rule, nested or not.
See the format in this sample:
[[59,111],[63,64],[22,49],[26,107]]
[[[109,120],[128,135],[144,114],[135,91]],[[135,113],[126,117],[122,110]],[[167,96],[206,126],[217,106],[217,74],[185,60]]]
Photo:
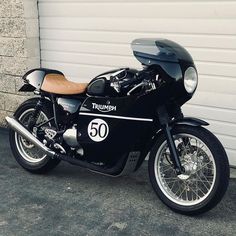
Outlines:
[[[27,121],[24,121],[24,118],[27,119],[27,116],[29,117],[29,115],[33,112],[37,102],[38,98],[32,98],[25,101],[18,107],[14,113],[14,117],[27,126]],[[39,119],[41,119],[41,116],[45,119],[53,117],[51,106],[43,106],[40,111]],[[50,122],[50,125],[53,126],[53,123]],[[31,173],[46,173],[55,168],[60,163],[60,160],[48,157],[39,148],[35,147],[29,141],[18,135],[13,129],[10,129],[9,131],[9,141],[13,156],[15,157],[16,161],[25,170]],[[30,154],[27,152],[30,152]],[[36,158],[36,154],[39,156],[38,158]]]

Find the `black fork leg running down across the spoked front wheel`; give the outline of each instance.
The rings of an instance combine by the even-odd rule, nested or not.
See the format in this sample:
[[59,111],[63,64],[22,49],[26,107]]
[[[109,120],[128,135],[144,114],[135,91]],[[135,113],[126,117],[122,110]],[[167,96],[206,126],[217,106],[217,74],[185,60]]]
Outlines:
[[170,149],[170,155],[171,155],[172,162],[174,164],[175,171],[176,171],[177,175],[180,175],[180,174],[184,173],[184,168],[182,167],[182,165],[180,163],[179,154],[178,154],[178,151],[176,149],[173,136],[170,132],[171,127],[168,124],[166,124],[163,127],[163,131],[165,133],[167,144],[168,144],[169,149]]

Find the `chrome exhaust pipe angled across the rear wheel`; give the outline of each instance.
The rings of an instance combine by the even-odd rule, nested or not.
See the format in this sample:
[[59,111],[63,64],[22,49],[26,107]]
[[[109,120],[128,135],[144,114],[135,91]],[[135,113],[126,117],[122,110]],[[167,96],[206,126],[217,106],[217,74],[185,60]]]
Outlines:
[[10,128],[16,131],[19,135],[23,138],[27,139],[35,146],[40,148],[44,151],[48,156],[53,157],[56,153],[46,147],[43,143],[41,143],[32,133],[30,133],[22,124],[20,124],[16,119],[7,116],[6,118],[7,123],[9,124]]

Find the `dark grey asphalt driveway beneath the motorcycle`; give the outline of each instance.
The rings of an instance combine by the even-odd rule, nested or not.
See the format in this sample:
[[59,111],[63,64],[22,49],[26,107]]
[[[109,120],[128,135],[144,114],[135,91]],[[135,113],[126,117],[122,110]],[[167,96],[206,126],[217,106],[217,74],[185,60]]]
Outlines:
[[0,235],[236,235],[236,179],[212,211],[182,216],[156,197],[146,163],[120,178],[67,163],[33,175],[15,162],[0,129]]

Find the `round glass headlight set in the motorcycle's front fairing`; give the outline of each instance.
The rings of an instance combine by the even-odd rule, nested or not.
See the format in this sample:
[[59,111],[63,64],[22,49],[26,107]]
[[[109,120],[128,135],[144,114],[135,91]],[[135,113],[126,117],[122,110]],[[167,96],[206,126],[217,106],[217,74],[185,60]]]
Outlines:
[[189,67],[184,73],[184,87],[188,93],[193,93],[197,87],[197,71]]

